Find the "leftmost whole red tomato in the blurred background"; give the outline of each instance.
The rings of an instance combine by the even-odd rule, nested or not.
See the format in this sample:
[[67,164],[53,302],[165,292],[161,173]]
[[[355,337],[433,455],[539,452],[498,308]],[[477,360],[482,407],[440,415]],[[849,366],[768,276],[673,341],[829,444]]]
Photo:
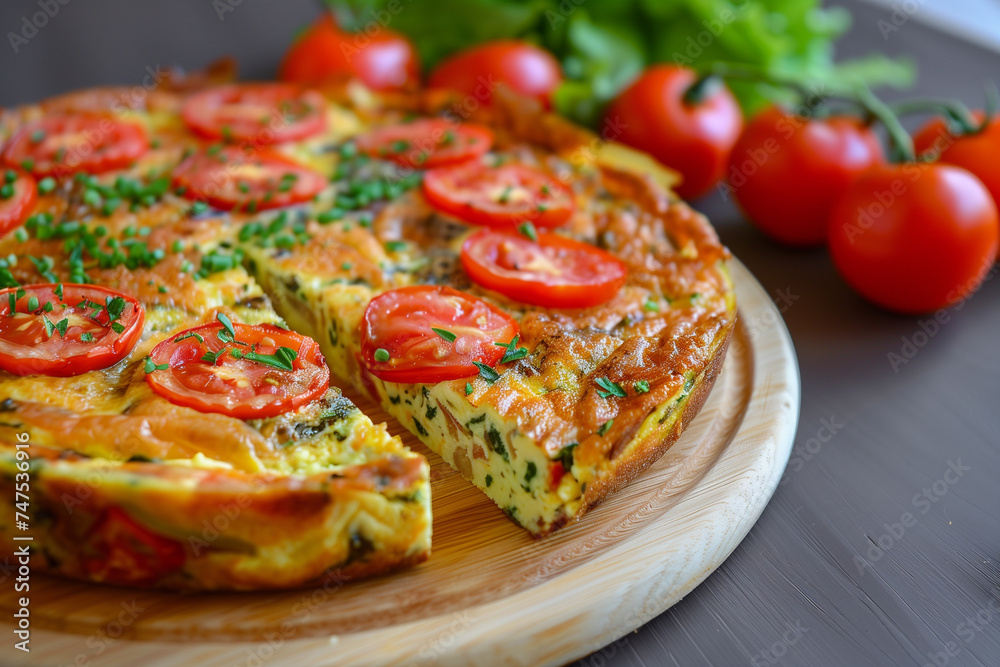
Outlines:
[[278,77],[295,83],[357,77],[372,90],[390,90],[420,81],[416,49],[388,28],[374,36],[343,32],[323,13],[288,49]]

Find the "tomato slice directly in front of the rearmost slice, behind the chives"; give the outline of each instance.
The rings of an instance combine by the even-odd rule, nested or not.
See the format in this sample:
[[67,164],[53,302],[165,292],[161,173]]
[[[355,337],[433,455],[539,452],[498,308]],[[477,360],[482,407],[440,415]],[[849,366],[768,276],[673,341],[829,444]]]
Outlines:
[[268,149],[210,149],[174,170],[174,185],[184,189],[185,197],[226,211],[253,213],[298,204],[315,197],[326,184],[323,174]]

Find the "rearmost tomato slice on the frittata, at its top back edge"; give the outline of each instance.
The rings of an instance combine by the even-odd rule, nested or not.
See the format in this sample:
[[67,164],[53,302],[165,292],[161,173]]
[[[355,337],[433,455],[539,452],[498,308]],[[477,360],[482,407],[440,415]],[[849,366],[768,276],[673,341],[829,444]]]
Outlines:
[[181,117],[208,139],[255,145],[305,139],[326,128],[326,102],[315,91],[280,83],[212,88],[189,97]]

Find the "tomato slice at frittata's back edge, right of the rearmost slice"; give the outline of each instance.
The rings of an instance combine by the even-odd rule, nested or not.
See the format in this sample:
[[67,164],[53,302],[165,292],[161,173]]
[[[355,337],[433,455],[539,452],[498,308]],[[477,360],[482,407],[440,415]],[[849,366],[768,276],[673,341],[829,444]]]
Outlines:
[[493,133],[482,125],[426,118],[362,134],[355,144],[366,155],[430,169],[479,157],[493,145]]

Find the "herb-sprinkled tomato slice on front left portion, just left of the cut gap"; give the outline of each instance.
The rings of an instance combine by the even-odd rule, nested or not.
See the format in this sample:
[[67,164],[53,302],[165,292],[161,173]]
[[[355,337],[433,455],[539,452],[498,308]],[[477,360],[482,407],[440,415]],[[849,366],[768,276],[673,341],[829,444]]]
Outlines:
[[237,419],[274,417],[326,393],[330,370],[316,341],[272,324],[230,324],[232,332],[205,324],[153,348],[150,388],[175,405]]

